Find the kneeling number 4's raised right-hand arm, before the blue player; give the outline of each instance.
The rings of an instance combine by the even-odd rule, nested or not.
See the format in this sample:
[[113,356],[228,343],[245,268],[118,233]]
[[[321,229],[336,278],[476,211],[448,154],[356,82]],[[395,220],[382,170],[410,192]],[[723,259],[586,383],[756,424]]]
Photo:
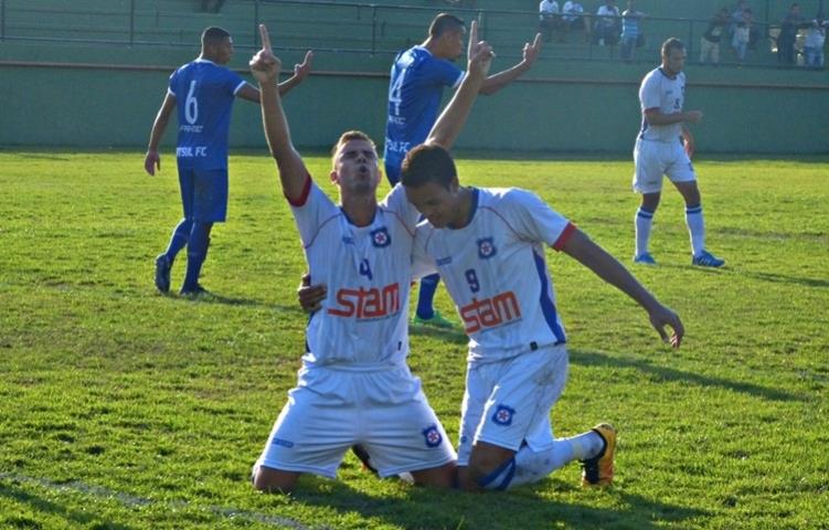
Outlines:
[[469,63],[467,65],[467,75],[464,81],[455,91],[449,104],[440,113],[440,116],[435,121],[435,125],[429,131],[428,138],[425,144],[439,145],[445,149],[451,149],[453,144],[457,139],[466,119],[469,116],[469,112],[472,109],[478,93],[480,92],[481,84],[489,72],[489,67],[492,65],[492,47],[483,41],[478,41],[478,24],[472,21],[469,29]]

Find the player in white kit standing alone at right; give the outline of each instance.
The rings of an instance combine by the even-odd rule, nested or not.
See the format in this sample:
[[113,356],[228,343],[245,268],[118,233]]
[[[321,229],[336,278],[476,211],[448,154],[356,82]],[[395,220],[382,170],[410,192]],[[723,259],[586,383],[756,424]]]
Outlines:
[[685,98],[684,63],[685,46],[678,39],[668,39],[662,44],[661,66],[649,72],[639,87],[642,124],[634,148],[634,191],[642,197],[635,218],[634,262],[645,265],[657,263],[648,250],[648,243],[661,197],[662,174],[666,174],[685,201],[691,263],[701,267],[721,267],[725,261],[705,250],[702,199],[689,158],[693,155],[693,137],[685,123],[699,123],[702,113],[682,112]]

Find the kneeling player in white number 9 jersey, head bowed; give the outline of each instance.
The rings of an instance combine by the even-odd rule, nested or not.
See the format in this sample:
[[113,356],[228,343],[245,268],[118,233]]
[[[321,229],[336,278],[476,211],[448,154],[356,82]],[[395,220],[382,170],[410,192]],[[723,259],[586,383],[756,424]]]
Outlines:
[[415,274],[440,274],[470,339],[458,448],[461,487],[507,489],[575,459],[584,465],[583,485],[610,484],[612,425],[561,439],[550,426],[550,410],[566,381],[567,351],[544,245],[630,296],[678,348],[683,328],[677,314],[533,193],[460,187],[451,156],[432,137],[406,156],[402,183],[426,218],[415,235]]

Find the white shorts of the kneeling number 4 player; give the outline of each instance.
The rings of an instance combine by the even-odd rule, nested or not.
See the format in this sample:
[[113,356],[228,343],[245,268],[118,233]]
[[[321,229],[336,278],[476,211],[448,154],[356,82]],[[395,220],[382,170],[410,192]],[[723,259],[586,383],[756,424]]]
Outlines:
[[257,465],[333,478],[361,444],[381,477],[456,458],[443,425],[408,367],[299,371]]

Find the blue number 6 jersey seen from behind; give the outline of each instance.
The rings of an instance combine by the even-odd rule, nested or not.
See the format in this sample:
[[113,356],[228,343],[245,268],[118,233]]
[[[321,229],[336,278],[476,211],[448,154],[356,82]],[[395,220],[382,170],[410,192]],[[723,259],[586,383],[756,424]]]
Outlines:
[[196,59],[172,73],[169,92],[178,105],[176,157],[180,168],[227,168],[231,112],[244,84],[236,73],[205,59]]

